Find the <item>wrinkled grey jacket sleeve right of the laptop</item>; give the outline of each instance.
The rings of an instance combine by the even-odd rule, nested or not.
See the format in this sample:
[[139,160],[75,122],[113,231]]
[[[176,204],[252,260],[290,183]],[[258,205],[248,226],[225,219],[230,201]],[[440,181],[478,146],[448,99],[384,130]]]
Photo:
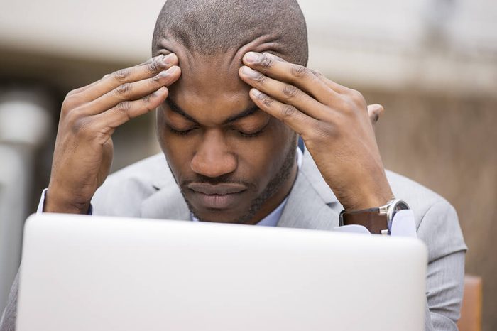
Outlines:
[[436,202],[422,217],[417,236],[428,246],[428,331],[456,330],[464,286],[466,245],[457,213],[446,201]]

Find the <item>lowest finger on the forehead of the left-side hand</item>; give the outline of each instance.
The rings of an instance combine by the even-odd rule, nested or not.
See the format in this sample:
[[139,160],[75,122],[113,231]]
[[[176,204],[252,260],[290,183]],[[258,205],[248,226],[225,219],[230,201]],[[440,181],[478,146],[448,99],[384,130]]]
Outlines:
[[168,97],[168,92],[166,87],[160,87],[160,89],[142,99],[120,102],[107,112],[97,115],[99,126],[102,129],[116,129],[131,119],[147,114],[165,101]]

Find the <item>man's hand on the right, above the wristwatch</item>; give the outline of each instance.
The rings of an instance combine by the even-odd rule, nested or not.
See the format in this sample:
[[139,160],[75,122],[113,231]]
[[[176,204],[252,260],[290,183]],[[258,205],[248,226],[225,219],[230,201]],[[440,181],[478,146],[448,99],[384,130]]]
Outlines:
[[346,210],[378,207],[391,200],[361,93],[272,54],[249,52],[243,61],[239,75],[253,87],[253,102],[302,136]]

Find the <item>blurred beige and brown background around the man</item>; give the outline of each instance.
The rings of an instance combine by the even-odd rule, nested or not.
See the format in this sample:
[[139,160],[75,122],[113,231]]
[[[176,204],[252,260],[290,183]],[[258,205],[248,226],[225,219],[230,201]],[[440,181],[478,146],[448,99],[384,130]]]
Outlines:
[[[71,89],[150,56],[163,0],[0,0],[0,311],[23,222],[48,185],[60,104]],[[310,67],[386,108],[386,167],[457,209],[466,273],[484,280],[497,330],[497,2],[300,1]],[[116,131],[113,170],[153,153],[154,116]]]

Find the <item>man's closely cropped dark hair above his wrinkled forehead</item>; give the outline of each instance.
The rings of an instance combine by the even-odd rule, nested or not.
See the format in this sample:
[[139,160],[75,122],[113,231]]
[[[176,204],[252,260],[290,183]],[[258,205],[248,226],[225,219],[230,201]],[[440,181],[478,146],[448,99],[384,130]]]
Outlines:
[[296,0],[168,0],[155,23],[154,54],[163,38],[202,55],[239,49],[260,38],[269,52],[307,65],[307,27]]

